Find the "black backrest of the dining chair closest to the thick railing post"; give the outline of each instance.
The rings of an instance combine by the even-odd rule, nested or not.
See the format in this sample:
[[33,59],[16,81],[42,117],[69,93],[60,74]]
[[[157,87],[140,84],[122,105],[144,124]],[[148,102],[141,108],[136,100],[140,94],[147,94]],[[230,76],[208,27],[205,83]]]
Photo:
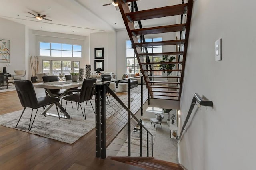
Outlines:
[[92,99],[94,94],[94,83],[96,83],[96,78],[84,79],[81,92],[80,92],[80,99],[79,102],[84,102],[87,100]]

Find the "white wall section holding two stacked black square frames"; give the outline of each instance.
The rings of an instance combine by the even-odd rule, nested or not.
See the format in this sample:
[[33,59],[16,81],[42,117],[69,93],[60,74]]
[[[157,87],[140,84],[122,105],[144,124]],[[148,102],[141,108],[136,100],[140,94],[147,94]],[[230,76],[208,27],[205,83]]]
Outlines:
[[116,32],[100,32],[90,34],[90,64],[94,71],[94,48],[104,48],[104,71],[116,74]]

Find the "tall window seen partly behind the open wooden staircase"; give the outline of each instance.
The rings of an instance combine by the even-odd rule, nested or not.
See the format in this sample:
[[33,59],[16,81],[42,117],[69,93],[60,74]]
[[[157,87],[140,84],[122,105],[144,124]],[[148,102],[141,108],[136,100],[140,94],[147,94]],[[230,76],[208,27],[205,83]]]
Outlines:
[[[146,42],[158,42],[162,41],[162,38],[147,38]],[[148,53],[162,53],[162,46],[150,46],[147,47]],[[145,49],[142,50],[145,53]],[[162,59],[161,56],[151,56],[150,61],[158,62]],[[146,59],[145,59],[146,61]],[[159,65],[153,65],[152,69],[158,70]],[[126,40],[126,73],[140,73],[140,65],[132,48],[132,43],[130,40]],[[153,75],[162,75],[161,71],[155,71]]]

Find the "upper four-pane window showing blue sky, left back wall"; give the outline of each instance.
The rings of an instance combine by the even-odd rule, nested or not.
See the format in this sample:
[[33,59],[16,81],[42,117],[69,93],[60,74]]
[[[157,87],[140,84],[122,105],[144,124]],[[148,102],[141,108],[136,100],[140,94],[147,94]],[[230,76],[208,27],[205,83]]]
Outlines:
[[39,42],[39,55],[48,57],[82,57],[82,46],[65,44]]

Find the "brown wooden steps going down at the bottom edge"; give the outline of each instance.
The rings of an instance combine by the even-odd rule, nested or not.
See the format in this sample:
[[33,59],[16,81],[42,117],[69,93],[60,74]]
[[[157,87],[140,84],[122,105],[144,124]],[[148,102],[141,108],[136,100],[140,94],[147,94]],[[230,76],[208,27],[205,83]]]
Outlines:
[[154,157],[109,156],[108,159],[137,166],[146,170],[183,170],[180,164],[175,164],[164,160],[157,160],[154,159]]

